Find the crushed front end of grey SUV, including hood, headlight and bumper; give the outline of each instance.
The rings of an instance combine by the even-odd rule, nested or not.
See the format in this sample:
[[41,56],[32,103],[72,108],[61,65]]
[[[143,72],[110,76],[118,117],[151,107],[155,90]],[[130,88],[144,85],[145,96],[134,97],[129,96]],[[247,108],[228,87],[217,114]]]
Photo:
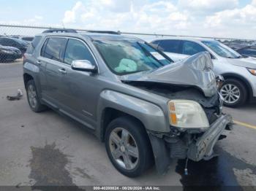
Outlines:
[[222,113],[211,56],[207,52],[146,74],[132,74],[122,81],[167,98],[170,132],[148,130],[159,173],[167,171],[171,158],[194,161],[214,157],[214,145],[222,139],[232,117]]

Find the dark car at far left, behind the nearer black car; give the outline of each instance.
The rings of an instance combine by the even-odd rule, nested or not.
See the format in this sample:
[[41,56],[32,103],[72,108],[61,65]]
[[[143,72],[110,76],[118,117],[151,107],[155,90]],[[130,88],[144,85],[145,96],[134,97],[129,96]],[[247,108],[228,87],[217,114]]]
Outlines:
[[9,37],[0,37],[0,44],[2,46],[16,47],[24,54],[29,46],[27,42],[24,42],[20,39],[9,38]]

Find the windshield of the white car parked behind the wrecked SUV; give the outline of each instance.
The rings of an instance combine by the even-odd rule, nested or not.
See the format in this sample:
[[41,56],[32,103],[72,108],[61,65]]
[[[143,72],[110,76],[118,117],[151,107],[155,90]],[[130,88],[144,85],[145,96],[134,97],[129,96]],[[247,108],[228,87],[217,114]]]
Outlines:
[[203,44],[206,44],[207,47],[211,48],[217,55],[225,58],[241,58],[241,55],[238,54],[235,50],[232,50],[230,47],[227,47],[225,44],[222,44],[217,41],[203,41]]

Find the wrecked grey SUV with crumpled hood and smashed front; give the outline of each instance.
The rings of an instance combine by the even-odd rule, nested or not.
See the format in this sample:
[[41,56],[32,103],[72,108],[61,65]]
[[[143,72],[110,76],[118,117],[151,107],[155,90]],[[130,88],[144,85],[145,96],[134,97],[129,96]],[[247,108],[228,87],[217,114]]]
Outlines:
[[171,158],[208,160],[231,117],[208,53],[183,63],[141,39],[114,32],[48,30],[23,61],[34,112],[47,107],[89,128],[121,174],[139,176]]

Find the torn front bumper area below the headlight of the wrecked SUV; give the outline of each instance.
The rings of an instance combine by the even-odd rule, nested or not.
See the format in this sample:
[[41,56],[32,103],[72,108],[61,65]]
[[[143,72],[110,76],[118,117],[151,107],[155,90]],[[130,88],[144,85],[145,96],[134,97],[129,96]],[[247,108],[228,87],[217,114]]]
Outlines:
[[183,136],[175,136],[148,132],[157,171],[160,174],[165,173],[170,164],[170,158],[189,158],[194,161],[211,159],[214,156],[214,145],[225,128],[230,128],[232,121],[229,114],[223,114],[206,132],[201,134],[185,133]]

